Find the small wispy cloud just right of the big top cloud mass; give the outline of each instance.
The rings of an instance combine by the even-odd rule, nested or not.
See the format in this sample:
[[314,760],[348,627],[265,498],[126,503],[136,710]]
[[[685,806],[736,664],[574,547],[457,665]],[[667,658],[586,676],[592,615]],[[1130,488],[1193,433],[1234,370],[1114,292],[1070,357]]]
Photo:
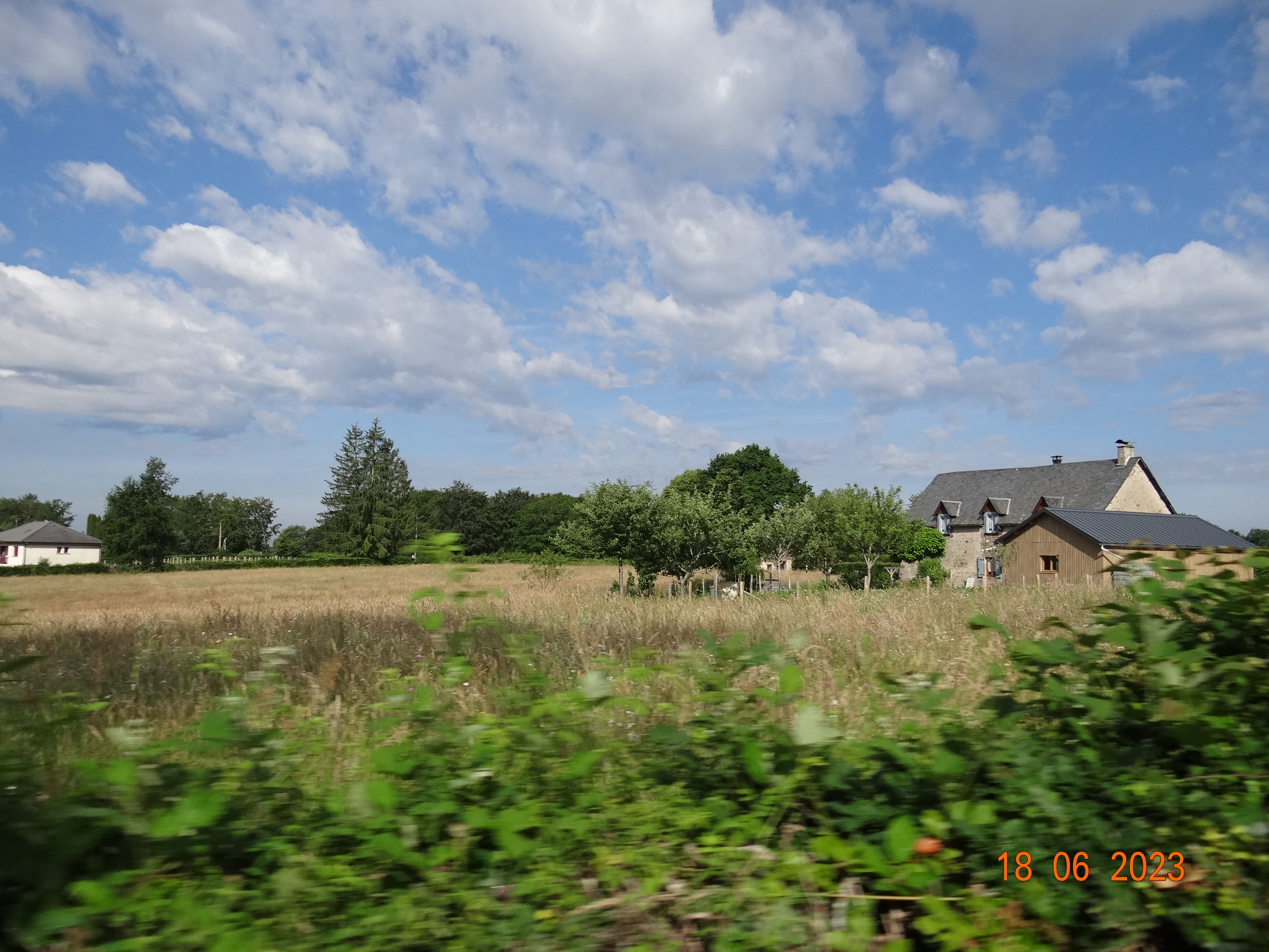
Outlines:
[[996,127],[978,91],[962,79],[957,53],[919,39],[912,41],[886,79],[883,99],[891,116],[912,127],[912,135],[895,140],[898,165],[920,155],[943,133],[980,142]]

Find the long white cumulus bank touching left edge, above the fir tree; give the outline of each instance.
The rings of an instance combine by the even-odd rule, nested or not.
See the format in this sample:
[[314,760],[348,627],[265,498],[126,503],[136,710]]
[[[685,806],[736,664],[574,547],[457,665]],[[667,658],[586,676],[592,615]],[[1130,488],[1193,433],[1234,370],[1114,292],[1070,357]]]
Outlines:
[[533,402],[525,378],[543,368],[475,286],[386,259],[325,209],[202,199],[214,223],[142,232],[142,258],[180,282],[4,268],[0,402],[206,434],[315,402],[447,402],[527,435],[571,430]]

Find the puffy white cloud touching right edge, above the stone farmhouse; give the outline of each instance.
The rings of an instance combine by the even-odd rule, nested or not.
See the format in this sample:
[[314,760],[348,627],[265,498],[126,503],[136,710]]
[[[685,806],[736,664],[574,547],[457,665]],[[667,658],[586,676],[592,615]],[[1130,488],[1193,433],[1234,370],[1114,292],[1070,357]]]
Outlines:
[[1269,353],[1269,265],[1206,241],[1145,260],[1068,248],[1036,265],[1032,291],[1063,305],[1063,322],[1043,339],[1088,376],[1133,378],[1141,362],[1171,352]]

